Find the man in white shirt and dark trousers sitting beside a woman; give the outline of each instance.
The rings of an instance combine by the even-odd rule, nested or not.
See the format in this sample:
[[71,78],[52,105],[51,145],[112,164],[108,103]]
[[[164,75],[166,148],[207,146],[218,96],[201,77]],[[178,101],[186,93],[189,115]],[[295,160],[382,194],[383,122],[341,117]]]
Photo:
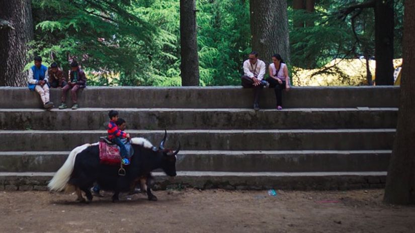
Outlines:
[[260,96],[262,88],[269,83],[263,80],[266,71],[265,62],[258,59],[258,53],[253,51],[249,59],[243,62],[243,76],[241,77],[244,88],[254,88],[254,109],[260,109]]

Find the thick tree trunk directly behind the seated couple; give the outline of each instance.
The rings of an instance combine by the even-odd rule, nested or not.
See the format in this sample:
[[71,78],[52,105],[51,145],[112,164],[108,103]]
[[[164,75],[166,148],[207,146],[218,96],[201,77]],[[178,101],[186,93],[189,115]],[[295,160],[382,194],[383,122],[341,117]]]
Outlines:
[[252,49],[268,65],[271,57],[279,53],[289,60],[287,1],[250,1]]

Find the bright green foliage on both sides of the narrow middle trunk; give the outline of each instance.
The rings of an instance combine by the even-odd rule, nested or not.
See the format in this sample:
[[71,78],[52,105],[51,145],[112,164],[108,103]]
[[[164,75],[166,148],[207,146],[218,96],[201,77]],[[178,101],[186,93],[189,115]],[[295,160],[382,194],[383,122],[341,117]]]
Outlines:
[[[64,70],[77,60],[90,71],[90,85],[181,85],[179,3],[33,1],[31,54],[57,61]],[[239,84],[250,47],[247,1],[197,4],[201,85]],[[102,75],[109,71],[117,75]]]

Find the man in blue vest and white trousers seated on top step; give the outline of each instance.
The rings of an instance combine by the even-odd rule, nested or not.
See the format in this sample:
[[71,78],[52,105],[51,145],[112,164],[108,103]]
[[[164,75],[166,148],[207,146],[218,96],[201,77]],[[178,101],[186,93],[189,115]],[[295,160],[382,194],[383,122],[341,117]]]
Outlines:
[[39,56],[35,57],[35,65],[29,69],[28,87],[39,93],[44,108],[53,107],[53,102],[49,101],[48,68],[42,65]]

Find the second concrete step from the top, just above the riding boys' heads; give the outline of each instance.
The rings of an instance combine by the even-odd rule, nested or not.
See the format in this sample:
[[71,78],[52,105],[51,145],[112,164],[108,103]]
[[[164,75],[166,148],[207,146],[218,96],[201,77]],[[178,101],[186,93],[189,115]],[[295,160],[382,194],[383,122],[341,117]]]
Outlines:
[[[111,108],[0,109],[3,130],[105,130]],[[398,108],[117,108],[129,129],[395,129]]]

